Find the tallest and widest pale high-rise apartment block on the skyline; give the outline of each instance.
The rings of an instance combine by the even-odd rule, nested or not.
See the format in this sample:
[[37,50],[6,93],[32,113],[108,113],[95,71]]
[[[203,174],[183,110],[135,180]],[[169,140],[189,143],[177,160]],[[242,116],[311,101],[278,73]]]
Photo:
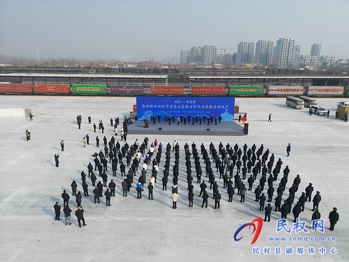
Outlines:
[[[296,40],[293,38],[279,38],[276,41],[273,54],[273,64],[279,66],[293,66],[295,60]],[[299,47],[300,48],[300,47]]]

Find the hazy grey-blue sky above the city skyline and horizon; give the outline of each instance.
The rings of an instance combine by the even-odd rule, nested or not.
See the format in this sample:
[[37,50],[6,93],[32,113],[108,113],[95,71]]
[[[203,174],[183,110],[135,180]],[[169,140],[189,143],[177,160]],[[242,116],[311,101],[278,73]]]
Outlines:
[[348,10],[349,0],[0,0],[0,54],[179,57],[286,37],[301,54],[321,43],[322,55],[348,58]]

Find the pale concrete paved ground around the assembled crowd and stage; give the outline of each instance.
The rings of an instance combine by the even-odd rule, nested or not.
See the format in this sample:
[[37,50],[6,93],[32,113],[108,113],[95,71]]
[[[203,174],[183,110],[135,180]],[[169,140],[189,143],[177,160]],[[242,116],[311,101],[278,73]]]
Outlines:
[[[115,179],[117,193],[111,200],[111,207],[105,206],[105,197],[101,204],[93,203],[91,182],[87,180],[90,197],[82,200],[87,226],[79,228],[74,216],[76,203],[73,197],[70,200],[73,225],[70,227],[62,223],[63,215],[61,222],[54,221],[53,205],[56,201],[63,204],[61,193],[64,189],[71,193],[72,180],[82,191],[80,172],[87,171],[88,162],[93,160],[91,155],[97,152],[95,134],[87,117],[90,115],[95,123],[103,119],[109,140],[113,135],[112,127],[108,126],[110,117],[129,115],[136,98],[0,96],[0,108],[30,107],[34,115],[32,122],[24,118],[0,118],[0,261],[348,261],[349,123],[335,119],[334,115],[336,102],[342,100],[347,99],[318,99],[319,105],[331,111],[327,118],[309,116],[306,108],[289,108],[285,105],[285,98],[237,98],[240,111],[248,112],[248,136],[149,136],[150,141],[158,139],[164,145],[174,140],[180,144],[182,167],[178,208],[172,209],[172,172],[170,190],[162,191],[157,183],[155,200],[149,201],[146,197],[137,200],[135,187],[129,197],[123,198],[118,171]],[[267,122],[269,113],[272,113],[271,123]],[[81,130],[77,128],[77,114],[82,115]],[[25,141],[26,129],[31,132],[29,142]],[[97,131],[96,135],[102,138],[101,132]],[[91,145],[84,149],[82,138],[87,133],[91,136]],[[134,142],[136,138],[143,140],[144,136],[129,135],[128,142]],[[65,152],[60,152],[61,140],[65,142]],[[300,191],[312,182],[315,191],[322,195],[319,209],[325,220],[325,233],[311,230],[299,234],[294,231],[291,234],[277,233],[276,220],[281,216],[273,211],[272,221],[263,224],[254,245],[250,245],[253,236],[247,228],[238,235],[243,239],[235,242],[233,235],[239,226],[259,216],[264,218],[264,212],[258,211],[259,205],[253,201],[254,194],[249,191],[244,204],[239,202],[236,194],[233,203],[228,203],[219,179],[216,179],[222,193],[219,210],[213,209],[212,199],[209,199],[207,209],[201,209],[195,180],[194,206],[188,208],[183,145],[185,142],[204,143],[208,148],[211,141],[216,146],[219,142],[224,145],[238,143],[240,146],[247,143],[249,147],[253,143],[257,146],[264,144],[264,148],[269,148],[276,158],[282,158],[283,168],[288,165],[291,169],[287,194],[293,179],[300,174],[302,182],[296,200]],[[292,145],[290,157],[286,157],[288,143]],[[55,167],[53,159],[57,153],[60,154],[59,168]],[[163,156],[160,174],[164,162]],[[139,174],[140,171],[137,178]],[[108,176],[111,179],[110,170]],[[196,179],[194,174],[193,177]],[[211,196],[212,192],[208,191]],[[144,195],[147,196],[147,190]],[[328,230],[328,215],[334,206],[338,208],[340,221],[331,232]],[[311,209],[312,204],[307,203],[305,212],[300,215],[308,230]],[[293,220],[291,215],[288,216],[289,225]],[[334,237],[336,241],[271,242],[270,237]],[[252,255],[252,247],[258,247],[261,255]],[[262,254],[264,247],[271,248],[271,255]],[[280,257],[274,254],[276,247],[282,250]],[[285,254],[287,247],[293,248],[293,255]],[[297,255],[297,247],[304,247],[306,254]],[[314,255],[307,254],[309,247],[315,248]],[[319,253],[321,247],[326,248],[324,255]],[[338,250],[336,255],[330,253],[333,247]]]

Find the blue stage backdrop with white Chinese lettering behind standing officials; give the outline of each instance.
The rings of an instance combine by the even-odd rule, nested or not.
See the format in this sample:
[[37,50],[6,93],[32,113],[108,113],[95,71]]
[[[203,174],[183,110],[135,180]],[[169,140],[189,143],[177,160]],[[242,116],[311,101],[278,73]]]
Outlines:
[[177,117],[190,116],[222,116],[222,121],[234,121],[235,97],[137,97],[137,119],[150,120],[151,115],[161,115],[165,121],[165,115]]

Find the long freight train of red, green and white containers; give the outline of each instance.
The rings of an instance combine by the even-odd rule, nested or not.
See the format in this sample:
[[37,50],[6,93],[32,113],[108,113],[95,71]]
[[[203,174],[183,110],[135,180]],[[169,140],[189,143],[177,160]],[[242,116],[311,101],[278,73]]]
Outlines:
[[0,94],[103,95],[103,96],[349,96],[349,86],[169,86],[169,85],[80,85],[0,83]]

